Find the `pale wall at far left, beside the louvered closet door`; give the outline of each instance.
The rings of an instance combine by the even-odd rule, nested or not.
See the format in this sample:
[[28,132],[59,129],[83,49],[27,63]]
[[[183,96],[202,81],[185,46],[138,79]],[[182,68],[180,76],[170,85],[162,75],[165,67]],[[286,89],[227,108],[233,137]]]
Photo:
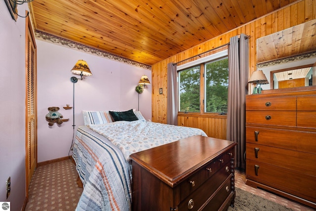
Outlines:
[[[24,15],[27,4],[18,6]],[[15,22],[0,0],[0,201],[21,211],[25,194],[25,18]],[[11,194],[6,199],[6,180]]]

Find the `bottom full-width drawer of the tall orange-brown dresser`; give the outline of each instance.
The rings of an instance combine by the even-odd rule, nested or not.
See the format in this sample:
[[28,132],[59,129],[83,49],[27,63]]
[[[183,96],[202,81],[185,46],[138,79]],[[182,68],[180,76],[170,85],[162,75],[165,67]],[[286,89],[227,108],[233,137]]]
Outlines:
[[[258,169],[257,175],[256,167]],[[316,176],[247,159],[246,179],[316,202]]]

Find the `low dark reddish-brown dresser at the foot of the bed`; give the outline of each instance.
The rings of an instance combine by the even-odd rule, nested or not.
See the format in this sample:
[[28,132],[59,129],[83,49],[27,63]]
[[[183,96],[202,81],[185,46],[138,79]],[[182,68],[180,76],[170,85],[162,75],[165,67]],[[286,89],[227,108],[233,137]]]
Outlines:
[[227,210],[235,199],[235,145],[193,136],[132,154],[133,211]]

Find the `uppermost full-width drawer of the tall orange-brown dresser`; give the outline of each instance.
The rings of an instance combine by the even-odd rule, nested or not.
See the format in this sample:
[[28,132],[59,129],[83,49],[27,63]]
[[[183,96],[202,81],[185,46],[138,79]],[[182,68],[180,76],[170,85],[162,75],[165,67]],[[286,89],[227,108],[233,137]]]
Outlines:
[[246,142],[316,153],[315,132],[246,127]]

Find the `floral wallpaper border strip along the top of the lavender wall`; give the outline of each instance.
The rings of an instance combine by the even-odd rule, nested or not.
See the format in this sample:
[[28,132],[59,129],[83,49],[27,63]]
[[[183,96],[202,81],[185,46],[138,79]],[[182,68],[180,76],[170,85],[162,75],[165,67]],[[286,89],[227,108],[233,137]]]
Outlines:
[[60,37],[57,37],[57,36],[54,36],[54,35],[50,35],[50,34],[47,34],[47,33],[44,33],[44,32],[36,31],[35,32],[35,37],[36,37],[36,39],[44,41],[44,42],[50,42],[50,43],[54,43],[54,44],[59,44],[59,45],[62,45],[62,46],[68,47],[68,48],[73,48],[73,49],[75,48],[75,49],[77,49],[79,51],[82,51],[82,52],[85,52],[85,53],[90,53],[90,54],[93,54],[93,55],[105,57],[107,59],[115,60],[115,61],[122,62],[122,63],[125,63],[125,64],[129,64],[129,65],[133,65],[133,66],[136,66],[136,67],[144,68],[144,69],[147,69],[147,70],[152,70],[152,66],[150,66],[150,65],[146,65],[146,64],[143,64],[143,63],[140,63],[140,62],[136,62],[136,61],[133,61],[133,60],[130,60],[130,59],[126,59],[126,58],[123,58],[121,56],[118,56],[118,55],[115,55],[115,54],[112,54],[112,53],[108,53],[108,52],[103,51],[103,50],[99,50],[97,48],[93,48],[93,47],[89,47],[89,46],[86,46],[86,45],[83,45],[83,44],[80,44],[80,43],[77,43],[77,42],[69,41],[69,40],[66,40],[64,38],[60,38]]

